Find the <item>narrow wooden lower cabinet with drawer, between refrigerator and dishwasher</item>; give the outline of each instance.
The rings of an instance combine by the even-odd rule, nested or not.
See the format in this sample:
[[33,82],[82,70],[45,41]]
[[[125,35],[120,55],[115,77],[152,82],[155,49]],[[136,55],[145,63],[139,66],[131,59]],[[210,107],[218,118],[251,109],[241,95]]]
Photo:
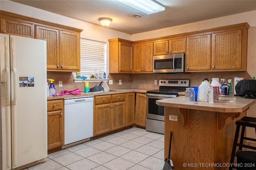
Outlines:
[[63,100],[47,101],[48,150],[64,145],[64,105]]

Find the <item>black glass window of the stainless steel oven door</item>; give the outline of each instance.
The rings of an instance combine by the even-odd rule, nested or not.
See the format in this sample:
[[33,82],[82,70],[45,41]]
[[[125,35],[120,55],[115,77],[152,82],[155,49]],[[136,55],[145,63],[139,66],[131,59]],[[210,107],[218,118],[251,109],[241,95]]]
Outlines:
[[158,106],[156,100],[159,98],[148,98],[148,114],[164,116],[164,106]]

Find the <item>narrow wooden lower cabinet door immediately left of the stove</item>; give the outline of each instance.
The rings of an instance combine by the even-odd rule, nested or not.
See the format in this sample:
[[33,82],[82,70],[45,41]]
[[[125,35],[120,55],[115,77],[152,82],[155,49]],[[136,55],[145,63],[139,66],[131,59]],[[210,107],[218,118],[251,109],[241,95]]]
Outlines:
[[146,94],[136,94],[135,124],[145,127],[146,125]]

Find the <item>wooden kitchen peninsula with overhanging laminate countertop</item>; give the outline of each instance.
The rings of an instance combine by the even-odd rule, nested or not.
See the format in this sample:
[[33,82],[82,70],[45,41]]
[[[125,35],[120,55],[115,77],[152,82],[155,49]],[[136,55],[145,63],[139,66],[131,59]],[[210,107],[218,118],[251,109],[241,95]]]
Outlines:
[[[172,131],[171,159],[175,169],[227,169],[225,165],[230,161],[235,122],[246,116],[246,110],[255,103],[254,99],[236,96],[219,97],[214,104],[185,103],[184,96],[157,100],[156,104],[165,106],[164,158],[168,157]],[[178,119],[170,121],[171,115]]]

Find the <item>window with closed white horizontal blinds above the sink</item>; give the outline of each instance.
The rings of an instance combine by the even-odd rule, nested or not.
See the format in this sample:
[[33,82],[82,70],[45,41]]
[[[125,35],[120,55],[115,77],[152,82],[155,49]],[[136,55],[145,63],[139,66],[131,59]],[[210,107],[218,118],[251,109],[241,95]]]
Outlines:
[[80,38],[80,67],[87,78],[106,72],[106,43]]

